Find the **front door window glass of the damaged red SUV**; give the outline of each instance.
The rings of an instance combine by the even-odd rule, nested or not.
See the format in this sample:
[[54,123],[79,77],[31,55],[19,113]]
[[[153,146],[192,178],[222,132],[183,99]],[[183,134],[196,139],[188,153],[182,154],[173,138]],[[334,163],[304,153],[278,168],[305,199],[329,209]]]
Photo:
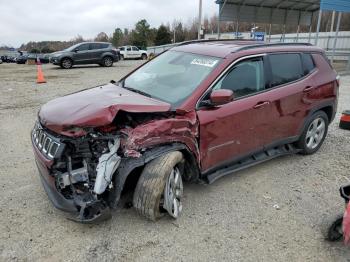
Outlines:
[[262,57],[254,57],[235,64],[213,88],[230,89],[235,98],[258,93],[265,89]]

